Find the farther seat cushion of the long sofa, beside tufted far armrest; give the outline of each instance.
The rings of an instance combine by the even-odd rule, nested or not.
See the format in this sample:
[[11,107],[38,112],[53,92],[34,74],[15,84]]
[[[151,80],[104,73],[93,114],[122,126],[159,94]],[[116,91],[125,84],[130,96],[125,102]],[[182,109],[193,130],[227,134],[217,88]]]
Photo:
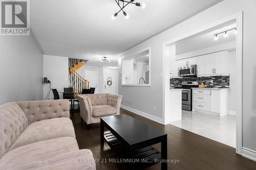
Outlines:
[[75,138],[75,130],[71,119],[67,117],[51,118],[29,125],[13,143],[10,150],[26,144],[58,137]]

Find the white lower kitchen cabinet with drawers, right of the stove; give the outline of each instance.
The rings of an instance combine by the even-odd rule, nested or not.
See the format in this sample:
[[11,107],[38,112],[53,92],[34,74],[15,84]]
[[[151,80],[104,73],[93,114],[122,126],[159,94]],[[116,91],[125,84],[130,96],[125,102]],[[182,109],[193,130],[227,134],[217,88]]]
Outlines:
[[224,116],[228,114],[229,89],[193,89],[193,111]]

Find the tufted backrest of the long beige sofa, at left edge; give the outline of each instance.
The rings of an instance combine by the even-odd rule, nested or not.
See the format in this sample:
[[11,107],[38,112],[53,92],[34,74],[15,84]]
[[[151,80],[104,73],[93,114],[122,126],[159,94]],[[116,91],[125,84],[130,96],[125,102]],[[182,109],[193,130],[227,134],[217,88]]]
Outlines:
[[27,126],[28,119],[16,103],[0,106],[0,158],[9,151]]

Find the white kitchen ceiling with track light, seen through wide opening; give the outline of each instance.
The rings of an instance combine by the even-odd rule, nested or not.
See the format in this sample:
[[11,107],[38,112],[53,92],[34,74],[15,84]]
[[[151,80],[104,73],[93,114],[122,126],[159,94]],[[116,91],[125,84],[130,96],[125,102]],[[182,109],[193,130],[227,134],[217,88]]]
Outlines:
[[228,31],[228,37],[224,37],[225,33],[219,34],[218,40],[214,40],[214,35],[223,31],[236,27],[236,20],[231,20],[217,27],[211,28],[199,34],[182,39],[176,42],[176,55],[200,50],[202,48],[223,44],[236,40],[235,30]]

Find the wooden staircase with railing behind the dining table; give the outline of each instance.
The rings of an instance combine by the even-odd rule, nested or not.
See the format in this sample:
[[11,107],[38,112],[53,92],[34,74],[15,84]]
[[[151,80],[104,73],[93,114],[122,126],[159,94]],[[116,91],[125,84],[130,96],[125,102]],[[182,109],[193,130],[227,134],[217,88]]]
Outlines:
[[69,58],[69,87],[73,87],[75,93],[81,93],[82,89],[89,87],[89,82],[76,72],[82,65],[84,62],[81,59]]

